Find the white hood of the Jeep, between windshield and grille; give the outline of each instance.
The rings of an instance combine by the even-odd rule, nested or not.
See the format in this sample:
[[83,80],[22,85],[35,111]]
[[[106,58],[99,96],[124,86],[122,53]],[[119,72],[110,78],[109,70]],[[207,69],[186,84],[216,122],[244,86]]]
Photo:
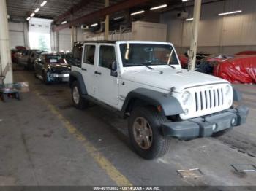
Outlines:
[[157,87],[164,90],[170,90],[175,87],[175,91],[181,93],[187,87],[200,85],[211,85],[218,83],[229,83],[224,79],[203,74],[197,71],[187,71],[185,69],[154,69],[141,71],[125,71],[122,78]]

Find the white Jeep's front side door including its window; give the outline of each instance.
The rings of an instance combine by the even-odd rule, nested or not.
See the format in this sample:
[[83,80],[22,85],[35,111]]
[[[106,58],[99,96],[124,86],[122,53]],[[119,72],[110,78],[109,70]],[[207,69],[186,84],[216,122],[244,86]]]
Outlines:
[[116,62],[115,47],[113,45],[99,46],[99,59],[94,79],[96,82],[96,97],[108,105],[118,104],[118,77],[111,76],[110,66]]

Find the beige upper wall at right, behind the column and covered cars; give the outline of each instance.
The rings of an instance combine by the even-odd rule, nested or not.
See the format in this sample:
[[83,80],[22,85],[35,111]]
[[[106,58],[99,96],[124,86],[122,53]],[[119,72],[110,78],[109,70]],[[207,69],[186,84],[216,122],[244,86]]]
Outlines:
[[[241,9],[237,15],[217,16],[220,12]],[[198,51],[233,54],[243,50],[256,50],[255,0],[226,0],[204,4],[200,17]],[[188,7],[192,17],[193,7]],[[162,15],[161,23],[167,24],[167,41],[173,42],[178,52],[188,50],[192,22],[176,18],[177,12]]]

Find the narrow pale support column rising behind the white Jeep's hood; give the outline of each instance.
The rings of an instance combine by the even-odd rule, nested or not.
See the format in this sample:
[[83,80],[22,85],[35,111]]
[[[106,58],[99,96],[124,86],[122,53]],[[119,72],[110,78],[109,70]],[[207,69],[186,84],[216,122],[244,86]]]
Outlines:
[[189,71],[195,71],[201,3],[202,3],[202,0],[195,0],[195,4],[194,4],[192,39],[191,39],[190,50],[189,50]]

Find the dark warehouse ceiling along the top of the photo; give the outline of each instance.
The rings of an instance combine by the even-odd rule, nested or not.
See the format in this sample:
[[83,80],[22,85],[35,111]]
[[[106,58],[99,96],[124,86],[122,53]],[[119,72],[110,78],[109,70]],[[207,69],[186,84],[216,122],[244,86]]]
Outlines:
[[[60,26],[61,22],[66,22],[65,24],[69,26],[69,23],[72,20],[83,17],[84,15],[89,15],[92,12],[97,12],[105,7],[105,0],[48,0],[44,6],[41,6],[42,2],[45,0],[7,0],[7,12],[10,15],[10,21],[24,21],[26,20],[32,12],[37,8],[39,11],[35,13],[34,17],[48,18],[53,19],[56,26]],[[151,7],[156,7],[162,4],[167,4],[167,7],[163,9],[154,10],[154,12],[166,12],[170,9],[177,8],[183,9],[184,6],[191,6],[194,1],[188,0],[185,3],[182,3],[181,0],[109,0],[110,7],[117,4],[122,4],[117,6],[118,9],[115,11],[110,11],[111,17],[124,16],[127,12],[137,12],[140,10],[149,10]],[[203,3],[213,2],[213,1],[224,1],[224,0],[203,0]],[[124,4],[126,6],[124,6]],[[127,6],[127,4],[129,4]],[[128,9],[125,7],[129,7]],[[117,11],[118,10],[118,11]],[[104,11],[103,11],[104,12]],[[102,21],[101,13],[98,14],[98,17],[91,15],[90,19],[87,17],[87,21],[83,24],[90,24],[89,22],[99,22]],[[101,16],[99,16],[101,15]],[[89,22],[88,22],[89,21]],[[81,22],[77,22],[81,24]],[[61,26],[64,28],[64,25]],[[61,28],[60,27],[60,28]]]

